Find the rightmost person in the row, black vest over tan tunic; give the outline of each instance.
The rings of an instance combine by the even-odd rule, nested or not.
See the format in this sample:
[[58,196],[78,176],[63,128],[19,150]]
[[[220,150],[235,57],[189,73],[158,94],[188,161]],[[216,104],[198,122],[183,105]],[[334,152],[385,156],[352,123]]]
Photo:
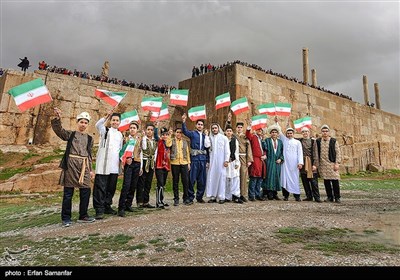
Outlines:
[[322,137],[317,139],[319,174],[324,179],[327,199],[325,202],[340,203],[339,165],[342,160],[339,143],[330,136],[328,125],[321,127]]

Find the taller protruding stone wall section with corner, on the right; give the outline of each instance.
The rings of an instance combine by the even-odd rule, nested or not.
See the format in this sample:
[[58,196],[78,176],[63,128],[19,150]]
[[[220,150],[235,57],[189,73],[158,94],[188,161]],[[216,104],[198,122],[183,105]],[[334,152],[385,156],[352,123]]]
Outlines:
[[[369,163],[400,169],[398,115],[239,64],[181,81],[179,88],[190,90],[188,108],[206,104],[206,126],[211,121],[224,124],[229,108],[215,111],[215,97],[227,91],[231,100],[247,96],[251,103],[250,111],[234,117],[233,124],[248,123],[252,115],[258,114],[256,107],[262,103],[287,102],[292,104],[289,117],[292,127],[294,120],[307,115],[312,117],[313,136],[318,136],[323,124],[330,126],[344,158],[341,172],[363,171]],[[282,126],[287,119],[280,117]],[[269,119],[269,124],[272,123]],[[193,123],[189,126],[193,127]]]

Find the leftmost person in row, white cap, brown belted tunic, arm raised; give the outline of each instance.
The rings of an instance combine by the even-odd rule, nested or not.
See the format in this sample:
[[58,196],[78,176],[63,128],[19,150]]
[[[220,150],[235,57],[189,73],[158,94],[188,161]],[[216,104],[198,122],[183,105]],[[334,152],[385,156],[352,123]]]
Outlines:
[[54,108],[56,118],[51,120],[54,132],[67,142],[67,148],[61,160],[62,168],[59,184],[64,186],[61,208],[61,220],[64,227],[72,224],[71,209],[74,188],[79,188],[79,219],[78,223],[91,223],[95,219],[89,217],[90,179],[94,178],[92,171],[93,138],[85,131],[89,125],[90,115],[80,113],[75,131],[66,130],[61,125],[61,110]]

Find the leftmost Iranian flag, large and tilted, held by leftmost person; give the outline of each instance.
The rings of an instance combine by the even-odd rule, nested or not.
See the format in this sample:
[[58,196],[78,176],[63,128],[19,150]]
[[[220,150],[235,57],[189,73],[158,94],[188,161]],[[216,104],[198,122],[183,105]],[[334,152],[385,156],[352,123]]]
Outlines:
[[13,87],[8,93],[14,97],[15,104],[21,112],[53,100],[40,78]]

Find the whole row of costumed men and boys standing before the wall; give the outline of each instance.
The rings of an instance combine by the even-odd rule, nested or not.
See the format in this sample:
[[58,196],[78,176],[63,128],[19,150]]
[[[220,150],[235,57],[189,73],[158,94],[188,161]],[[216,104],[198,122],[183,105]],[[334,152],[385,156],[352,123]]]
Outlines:
[[[91,119],[89,114],[79,114],[77,129],[71,131],[62,128],[61,111],[58,108],[54,111],[53,130],[67,141],[60,164],[60,184],[64,186],[61,211],[64,226],[72,224],[74,188],[80,190],[78,222],[93,222],[103,219],[105,214],[124,217],[125,211],[134,211],[135,195],[138,207],[168,207],[164,190],[169,171],[172,173],[174,206],[180,203],[179,181],[183,186],[182,202],[185,205],[193,204],[195,199],[198,203],[205,203],[205,196],[209,203],[220,204],[280,200],[280,191],[284,200],[288,200],[292,193],[296,201],[301,201],[299,178],[306,194],[303,200],[321,202],[318,174],[324,179],[326,201],[340,202],[340,149],[336,139],[330,137],[327,125],[321,128],[321,138],[310,138],[309,129],[303,128],[303,138],[298,140],[290,127],[285,134],[282,133],[277,118],[267,128],[269,137],[265,137],[261,128],[252,133],[251,126],[248,126],[244,132],[243,122],[236,123],[234,133],[230,114],[224,130],[218,123],[212,123],[208,131],[204,128],[204,120],[197,120],[195,129],[189,130],[184,114],[182,128],[176,128],[174,132],[165,127],[158,131],[156,124],[148,123],[139,133],[139,124],[132,122],[129,135],[124,138],[118,130],[120,114],[109,111],[96,123],[100,142],[94,173],[93,139],[85,132]],[[111,205],[122,171],[118,210],[114,210]],[[154,173],[157,180],[156,206],[149,203]],[[90,179],[93,178],[95,218],[87,213]]]

